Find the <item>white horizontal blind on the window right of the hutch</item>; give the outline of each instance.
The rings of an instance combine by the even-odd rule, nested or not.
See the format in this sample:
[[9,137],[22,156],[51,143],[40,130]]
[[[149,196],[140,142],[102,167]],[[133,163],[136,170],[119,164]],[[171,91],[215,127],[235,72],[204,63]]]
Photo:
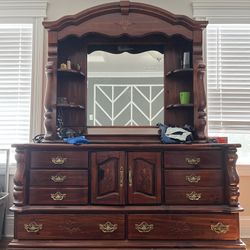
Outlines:
[[207,27],[209,133],[250,129],[250,25]]

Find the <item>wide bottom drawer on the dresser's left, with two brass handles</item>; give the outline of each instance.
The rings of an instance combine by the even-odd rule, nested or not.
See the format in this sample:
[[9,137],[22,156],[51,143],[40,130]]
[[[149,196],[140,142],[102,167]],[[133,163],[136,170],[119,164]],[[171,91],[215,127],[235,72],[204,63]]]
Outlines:
[[18,239],[124,239],[124,215],[17,215]]

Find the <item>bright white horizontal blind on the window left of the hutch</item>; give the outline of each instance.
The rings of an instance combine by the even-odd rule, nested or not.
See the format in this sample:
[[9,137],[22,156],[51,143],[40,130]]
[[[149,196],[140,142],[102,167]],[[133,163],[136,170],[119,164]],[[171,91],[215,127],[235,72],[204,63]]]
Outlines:
[[0,147],[29,142],[32,24],[0,24]]

